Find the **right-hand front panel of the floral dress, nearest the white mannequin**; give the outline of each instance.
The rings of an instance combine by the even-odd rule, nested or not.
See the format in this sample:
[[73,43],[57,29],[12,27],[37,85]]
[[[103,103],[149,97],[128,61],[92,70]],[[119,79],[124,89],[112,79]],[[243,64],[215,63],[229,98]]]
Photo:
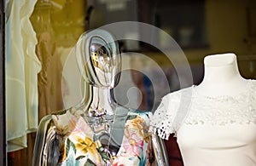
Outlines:
[[118,165],[150,165],[150,134],[148,133],[147,114],[130,113],[125,123],[125,135],[117,157],[113,161]]

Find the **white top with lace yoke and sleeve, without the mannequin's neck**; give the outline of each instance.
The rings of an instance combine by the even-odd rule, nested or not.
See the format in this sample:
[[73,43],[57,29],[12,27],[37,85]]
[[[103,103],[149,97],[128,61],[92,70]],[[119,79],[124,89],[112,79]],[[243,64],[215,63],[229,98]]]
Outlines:
[[[194,85],[167,94],[151,119],[163,139],[177,135],[189,166],[256,165],[256,81],[236,96],[208,97]],[[184,106],[183,106],[184,105]]]

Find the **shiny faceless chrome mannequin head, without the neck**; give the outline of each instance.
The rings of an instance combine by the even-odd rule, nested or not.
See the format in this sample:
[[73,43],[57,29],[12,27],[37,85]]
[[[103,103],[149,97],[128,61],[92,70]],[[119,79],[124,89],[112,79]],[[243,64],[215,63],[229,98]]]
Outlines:
[[85,32],[76,47],[79,70],[84,80],[100,89],[113,89],[119,83],[120,52],[108,31]]

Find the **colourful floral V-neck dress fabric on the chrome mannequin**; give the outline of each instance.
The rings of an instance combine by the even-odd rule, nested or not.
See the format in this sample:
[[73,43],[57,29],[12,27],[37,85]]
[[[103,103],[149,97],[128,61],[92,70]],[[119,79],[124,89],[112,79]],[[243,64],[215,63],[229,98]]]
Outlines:
[[[150,115],[150,112],[128,113],[119,152],[111,157],[104,156],[106,153],[102,152],[101,142],[95,139],[90,125],[81,114],[73,115],[67,111],[62,115],[52,115],[54,127],[51,132],[54,131],[53,138],[57,140],[55,142],[59,148],[51,148],[48,151],[59,156],[56,163],[60,166],[107,165],[107,163],[113,166],[150,165],[151,139],[148,133]],[[58,150],[59,152],[56,152]],[[54,157],[48,155],[49,158],[50,156]]]

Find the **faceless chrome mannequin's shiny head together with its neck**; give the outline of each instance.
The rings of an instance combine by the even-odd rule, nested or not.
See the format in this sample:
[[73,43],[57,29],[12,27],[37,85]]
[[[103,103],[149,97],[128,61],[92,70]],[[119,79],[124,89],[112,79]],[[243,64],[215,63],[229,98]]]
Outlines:
[[119,83],[120,52],[118,42],[108,31],[96,29],[81,35],[76,45],[79,70],[92,86],[88,117],[113,115],[115,103],[110,93]]

